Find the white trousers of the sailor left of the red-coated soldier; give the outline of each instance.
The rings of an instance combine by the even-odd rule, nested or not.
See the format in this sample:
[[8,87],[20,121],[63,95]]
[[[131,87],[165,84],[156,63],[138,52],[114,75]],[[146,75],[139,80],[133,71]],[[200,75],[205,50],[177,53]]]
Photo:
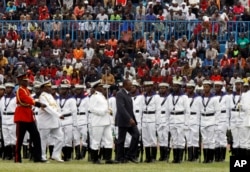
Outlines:
[[16,145],[16,124],[2,125],[4,146]]

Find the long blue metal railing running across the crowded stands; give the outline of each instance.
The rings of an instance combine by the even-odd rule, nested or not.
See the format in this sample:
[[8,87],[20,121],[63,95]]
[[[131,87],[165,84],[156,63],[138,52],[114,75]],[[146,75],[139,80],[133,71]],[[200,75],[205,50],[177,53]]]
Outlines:
[[9,28],[14,28],[23,38],[28,35],[34,37],[38,28],[53,38],[59,34],[64,38],[66,34],[70,34],[72,39],[81,36],[86,39],[91,33],[95,38],[104,35],[105,39],[109,39],[111,35],[115,35],[117,39],[121,36],[126,38],[133,37],[138,39],[141,36],[147,38],[153,36],[155,40],[161,35],[165,39],[174,36],[176,39],[186,35],[188,39],[191,36],[198,38],[203,35],[209,40],[211,35],[217,35],[220,43],[224,43],[230,35],[237,40],[239,33],[244,32],[249,38],[250,22],[229,21],[229,22],[210,22],[201,21],[160,21],[160,20],[121,20],[121,21],[97,21],[97,20],[56,20],[56,21],[0,21],[0,33],[6,34]]

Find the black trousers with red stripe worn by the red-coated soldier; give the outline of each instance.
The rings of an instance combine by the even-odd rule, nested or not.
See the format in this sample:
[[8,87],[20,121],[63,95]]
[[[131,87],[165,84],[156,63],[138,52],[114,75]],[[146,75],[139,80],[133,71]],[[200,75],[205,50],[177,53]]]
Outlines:
[[41,138],[35,122],[17,122],[16,123],[16,151],[15,162],[22,162],[21,148],[26,131],[30,134],[31,142],[34,146],[34,161],[42,158]]

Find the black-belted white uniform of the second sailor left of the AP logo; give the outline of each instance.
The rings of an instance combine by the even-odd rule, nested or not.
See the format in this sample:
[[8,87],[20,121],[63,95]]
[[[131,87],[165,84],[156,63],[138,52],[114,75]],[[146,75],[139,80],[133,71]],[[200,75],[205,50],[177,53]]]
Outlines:
[[200,102],[200,127],[204,149],[215,148],[215,127],[217,116],[220,114],[219,104],[216,97],[210,95],[203,97]]

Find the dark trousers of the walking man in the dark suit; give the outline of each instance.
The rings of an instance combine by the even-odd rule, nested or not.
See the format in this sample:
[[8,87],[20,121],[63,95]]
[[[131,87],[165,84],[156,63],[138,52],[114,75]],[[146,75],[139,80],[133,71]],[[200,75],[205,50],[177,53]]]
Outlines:
[[117,140],[117,160],[118,161],[122,161],[125,158],[127,158],[124,155],[124,143],[125,143],[127,133],[129,133],[129,135],[131,136],[131,141],[130,141],[129,150],[126,156],[130,158],[136,157],[139,136],[140,136],[137,126],[119,127],[118,128],[118,140]]

